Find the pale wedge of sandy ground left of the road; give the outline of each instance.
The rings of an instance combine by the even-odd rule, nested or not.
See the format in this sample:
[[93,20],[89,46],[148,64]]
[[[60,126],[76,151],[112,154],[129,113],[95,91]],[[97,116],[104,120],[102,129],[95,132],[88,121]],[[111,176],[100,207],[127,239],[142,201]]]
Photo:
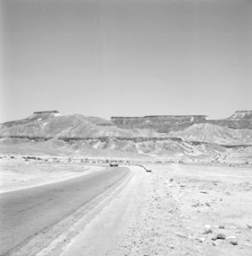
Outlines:
[[83,163],[56,162],[43,160],[25,161],[22,158],[0,160],[0,194],[48,183],[60,182],[98,172],[105,166],[92,166]]

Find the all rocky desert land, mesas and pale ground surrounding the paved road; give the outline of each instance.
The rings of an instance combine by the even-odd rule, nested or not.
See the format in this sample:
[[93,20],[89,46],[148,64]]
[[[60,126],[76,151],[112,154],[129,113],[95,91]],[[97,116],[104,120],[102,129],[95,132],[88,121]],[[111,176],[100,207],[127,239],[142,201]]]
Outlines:
[[249,256],[251,116],[37,112],[0,126],[0,193],[100,172],[116,160],[129,178],[36,255]]

